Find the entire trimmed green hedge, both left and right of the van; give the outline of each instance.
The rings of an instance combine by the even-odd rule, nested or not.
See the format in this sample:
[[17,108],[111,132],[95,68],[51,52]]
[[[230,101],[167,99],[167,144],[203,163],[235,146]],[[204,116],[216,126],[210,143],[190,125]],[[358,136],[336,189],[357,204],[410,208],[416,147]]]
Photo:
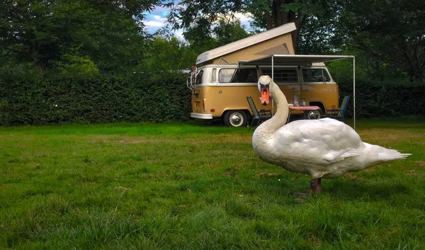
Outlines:
[[[341,84],[341,98],[353,95]],[[356,118],[425,115],[425,86],[356,84]],[[0,79],[0,125],[188,120],[186,75],[134,74],[128,78]],[[346,117],[353,115],[353,103]]]

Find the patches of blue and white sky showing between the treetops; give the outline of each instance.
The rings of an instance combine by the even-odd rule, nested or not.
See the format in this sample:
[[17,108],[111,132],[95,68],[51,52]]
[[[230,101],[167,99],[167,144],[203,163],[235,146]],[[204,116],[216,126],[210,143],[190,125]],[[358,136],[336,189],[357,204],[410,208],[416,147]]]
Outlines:
[[[143,21],[145,23],[145,31],[149,34],[153,34],[159,30],[159,28],[162,28],[162,26],[165,25],[166,22],[166,16],[169,14],[169,9],[164,8],[161,6],[158,6],[157,8],[154,8],[153,11],[145,12],[144,13],[146,18]],[[241,23],[246,25],[246,27],[249,27],[249,21],[252,19],[248,16],[244,16],[242,13],[237,13],[235,15],[237,18],[241,20]],[[176,30],[175,31],[176,37],[183,38],[183,30]]]

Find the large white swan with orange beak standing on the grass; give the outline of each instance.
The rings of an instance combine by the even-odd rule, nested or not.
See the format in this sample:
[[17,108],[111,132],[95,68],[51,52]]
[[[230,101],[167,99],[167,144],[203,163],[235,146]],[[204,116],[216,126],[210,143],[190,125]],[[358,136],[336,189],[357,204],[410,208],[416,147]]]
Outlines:
[[331,118],[296,120],[285,125],[288,101],[278,85],[270,76],[263,75],[258,88],[261,103],[267,105],[273,96],[277,111],[254,131],[255,154],[288,171],[310,174],[312,194],[322,193],[322,178],[336,178],[348,171],[360,171],[411,155],[362,142],[353,128]]

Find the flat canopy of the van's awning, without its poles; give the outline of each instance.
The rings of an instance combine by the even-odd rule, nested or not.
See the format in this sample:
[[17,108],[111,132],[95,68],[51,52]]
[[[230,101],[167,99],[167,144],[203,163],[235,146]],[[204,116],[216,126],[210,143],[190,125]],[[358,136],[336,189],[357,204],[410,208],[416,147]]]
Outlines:
[[330,62],[353,57],[352,55],[269,55],[251,61],[239,61],[239,64],[246,66],[270,66],[273,62],[274,66],[310,66],[317,62]]

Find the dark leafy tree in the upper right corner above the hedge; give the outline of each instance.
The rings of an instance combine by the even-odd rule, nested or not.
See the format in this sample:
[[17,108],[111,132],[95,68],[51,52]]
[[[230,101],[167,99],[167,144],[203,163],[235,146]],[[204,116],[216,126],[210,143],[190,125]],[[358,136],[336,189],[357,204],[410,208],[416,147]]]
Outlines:
[[[339,34],[368,57],[394,65],[422,82],[425,72],[425,3],[406,1],[343,1]],[[365,8],[364,6],[368,6]]]

